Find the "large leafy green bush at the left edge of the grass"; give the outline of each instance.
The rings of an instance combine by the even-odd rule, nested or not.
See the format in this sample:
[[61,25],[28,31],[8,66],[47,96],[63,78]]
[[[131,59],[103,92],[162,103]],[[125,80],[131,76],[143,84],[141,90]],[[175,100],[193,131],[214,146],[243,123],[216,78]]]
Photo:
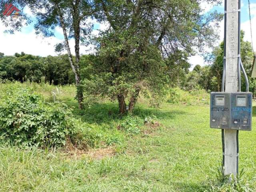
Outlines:
[[10,90],[0,103],[0,135],[22,146],[63,146],[68,135],[66,115],[45,105],[30,89]]

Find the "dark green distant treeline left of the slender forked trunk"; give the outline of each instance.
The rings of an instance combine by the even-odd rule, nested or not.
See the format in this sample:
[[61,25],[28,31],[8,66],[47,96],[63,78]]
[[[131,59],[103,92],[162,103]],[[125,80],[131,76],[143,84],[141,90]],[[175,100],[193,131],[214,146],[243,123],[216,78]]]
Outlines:
[[0,58],[0,78],[24,81],[48,81],[57,84],[75,83],[67,55],[32,56],[16,53]]

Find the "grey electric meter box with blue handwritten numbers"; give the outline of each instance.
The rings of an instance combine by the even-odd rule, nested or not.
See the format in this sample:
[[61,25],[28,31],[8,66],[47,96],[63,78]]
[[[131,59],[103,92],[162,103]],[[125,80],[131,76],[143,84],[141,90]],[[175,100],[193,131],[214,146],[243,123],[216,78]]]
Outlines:
[[230,127],[235,130],[252,130],[252,93],[231,93]]

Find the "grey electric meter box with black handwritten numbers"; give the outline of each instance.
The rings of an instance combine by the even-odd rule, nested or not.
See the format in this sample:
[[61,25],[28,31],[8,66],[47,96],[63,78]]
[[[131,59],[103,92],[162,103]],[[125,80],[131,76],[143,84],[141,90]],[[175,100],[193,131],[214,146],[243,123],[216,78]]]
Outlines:
[[212,92],[210,102],[210,127],[230,129],[230,93]]

